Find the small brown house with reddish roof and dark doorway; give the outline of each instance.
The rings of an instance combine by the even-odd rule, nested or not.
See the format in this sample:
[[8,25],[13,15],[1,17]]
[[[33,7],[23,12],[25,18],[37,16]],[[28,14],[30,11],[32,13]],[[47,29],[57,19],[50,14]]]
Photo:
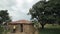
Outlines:
[[[28,20],[19,20],[8,23],[9,29],[15,34],[36,34],[33,23]],[[15,30],[14,30],[15,28]],[[38,34],[38,32],[37,32]]]

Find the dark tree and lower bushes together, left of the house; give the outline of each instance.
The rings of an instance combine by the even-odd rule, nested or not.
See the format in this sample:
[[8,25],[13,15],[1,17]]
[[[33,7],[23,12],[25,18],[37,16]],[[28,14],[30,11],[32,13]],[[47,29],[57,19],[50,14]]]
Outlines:
[[0,10],[0,34],[6,30],[5,25],[7,25],[6,23],[10,21],[11,19],[7,10]]

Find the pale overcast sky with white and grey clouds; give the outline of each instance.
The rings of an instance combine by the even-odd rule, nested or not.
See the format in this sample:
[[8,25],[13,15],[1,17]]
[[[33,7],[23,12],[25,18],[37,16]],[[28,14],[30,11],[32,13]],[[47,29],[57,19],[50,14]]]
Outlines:
[[26,19],[30,20],[27,15],[29,9],[39,0],[0,0],[0,10],[8,10],[13,21]]

